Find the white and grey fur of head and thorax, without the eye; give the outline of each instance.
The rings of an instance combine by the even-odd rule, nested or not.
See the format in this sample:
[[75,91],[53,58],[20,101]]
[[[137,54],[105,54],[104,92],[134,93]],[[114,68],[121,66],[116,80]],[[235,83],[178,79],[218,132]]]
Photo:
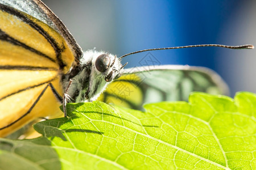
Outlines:
[[[95,66],[96,59],[101,54],[108,54],[110,64],[114,62],[113,66],[108,67],[104,73],[98,71]],[[84,55],[80,59],[80,65],[83,69],[71,78],[72,83],[68,90],[68,95],[76,103],[96,100],[110,83],[106,82],[106,76],[113,71],[112,73],[115,77],[119,72],[122,73],[123,70],[121,69],[122,65],[119,59],[115,58],[113,54],[102,51],[97,52],[96,50],[87,50],[84,52]],[[69,80],[65,80],[65,82],[67,83]],[[79,95],[77,95],[77,92],[79,92]]]

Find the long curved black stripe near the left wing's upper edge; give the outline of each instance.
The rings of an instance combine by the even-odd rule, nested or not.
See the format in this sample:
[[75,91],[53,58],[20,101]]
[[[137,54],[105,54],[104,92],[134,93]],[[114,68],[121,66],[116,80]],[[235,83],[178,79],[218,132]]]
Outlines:
[[28,19],[26,16],[22,14],[22,12],[19,12],[13,7],[6,6],[3,4],[0,4],[0,8],[2,11],[5,11],[11,15],[15,15],[18,17],[20,20],[22,20],[24,23],[27,23],[30,25],[32,28],[34,28],[36,31],[38,31],[42,36],[46,38],[46,40],[51,44],[52,48],[55,50],[56,58],[57,58],[57,63],[60,66],[60,69],[63,70],[64,67],[66,66],[63,60],[61,59],[61,52],[65,50],[64,45],[61,46],[61,48],[57,45],[57,42],[53,37],[51,37],[42,27],[40,27],[38,24],[32,22],[32,20]]

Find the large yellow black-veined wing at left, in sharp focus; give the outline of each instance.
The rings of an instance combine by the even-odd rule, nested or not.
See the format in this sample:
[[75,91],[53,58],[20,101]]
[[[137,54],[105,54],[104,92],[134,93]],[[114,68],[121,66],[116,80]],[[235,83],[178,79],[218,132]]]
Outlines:
[[[27,5],[31,11],[22,10]],[[35,118],[61,114],[61,75],[76,63],[80,47],[71,48],[65,32],[49,26],[60,23],[43,7],[40,1],[0,1],[0,137]]]

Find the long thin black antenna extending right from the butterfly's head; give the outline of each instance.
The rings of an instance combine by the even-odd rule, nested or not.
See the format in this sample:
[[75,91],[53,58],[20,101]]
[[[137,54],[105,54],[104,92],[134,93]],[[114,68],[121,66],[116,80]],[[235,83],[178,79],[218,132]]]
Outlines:
[[137,52],[131,52],[128,54],[125,54],[119,59],[129,56],[131,54],[137,54],[137,53],[142,53],[142,52],[147,52],[147,51],[154,51],[154,50],[167,50],[167,49],[179,49],[179,48],[192,48],[192,47],[203,47],[203,46],[217,46],[217,47],[222,47],[222,48],[229,48],[229,49],[254,49],[253,45],[247,44],[247,45],[238,45],[238,46],[230,46],[230,45],[221,45],[221,44],[201,44],[201,45],[187,45],[187,46],[174,46],[174,47],[167,47],[167,48],[151,48],[151,49],[144,49],[144,50],[139,50]]

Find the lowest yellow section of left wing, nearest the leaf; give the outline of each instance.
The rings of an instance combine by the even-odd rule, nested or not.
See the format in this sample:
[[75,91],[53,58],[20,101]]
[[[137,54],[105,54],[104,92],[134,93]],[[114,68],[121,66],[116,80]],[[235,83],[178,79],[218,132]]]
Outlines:
[[[56,79],[53,84],[55,87],[58,87],[59,79]],[[11,95],[0,101],[0,136],[4,137],[18,130],[28,122],[35,120],[35,118],[47,117],[49,115],[51,115],[51,118],[54,118],[63,114],[59,109],[60,103],[49,87],[47,87],[43,96],[40,97],[38,103],[35,104],[46,86],[47,84],[43,84],[42,86]],[[60,86],[57,90],[61,92]],[[35,104],[35,107],[30,111],[33,104]]]

